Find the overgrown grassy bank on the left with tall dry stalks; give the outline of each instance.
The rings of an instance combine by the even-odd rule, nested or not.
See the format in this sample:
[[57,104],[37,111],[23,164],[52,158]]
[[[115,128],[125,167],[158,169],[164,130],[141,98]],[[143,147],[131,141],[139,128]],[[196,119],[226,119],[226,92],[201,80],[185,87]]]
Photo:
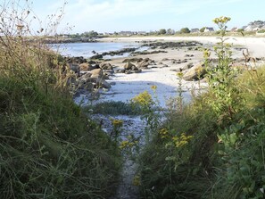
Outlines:
[[21,16],[30,11],[2,8],[1,198],[111,195],[120,170],[118,145],[73,103],[68,82],[75,74],[42,44],[45,36],[34,43],[24,37],[30,32]]

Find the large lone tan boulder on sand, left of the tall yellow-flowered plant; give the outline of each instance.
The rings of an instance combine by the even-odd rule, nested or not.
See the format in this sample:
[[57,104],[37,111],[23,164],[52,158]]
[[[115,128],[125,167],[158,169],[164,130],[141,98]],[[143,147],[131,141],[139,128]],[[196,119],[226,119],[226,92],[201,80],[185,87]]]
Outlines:
[[189,70],[183,76],[186,81],[199,80],[202,79],[206,74],[206,70],[203,68],[204,64],[197,65]]

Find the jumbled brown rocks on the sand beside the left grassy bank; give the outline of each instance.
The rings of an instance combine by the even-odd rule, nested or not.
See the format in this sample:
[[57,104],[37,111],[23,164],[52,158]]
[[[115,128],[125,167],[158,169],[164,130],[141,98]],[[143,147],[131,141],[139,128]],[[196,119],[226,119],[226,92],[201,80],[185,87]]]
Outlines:
[[65,61],[67,67],[77,75],[77,79],[70,79],[70,84],[78,90],[78,93],[98,88],[110,89],[112,84],[106,79],[110,79],[114,73],[139,73],[149,65],[155,64],[149,58],[128,58],[123,61],[123,69],[114,70],[115,67],[110,62],[87,61],[83,57],[68,57]]

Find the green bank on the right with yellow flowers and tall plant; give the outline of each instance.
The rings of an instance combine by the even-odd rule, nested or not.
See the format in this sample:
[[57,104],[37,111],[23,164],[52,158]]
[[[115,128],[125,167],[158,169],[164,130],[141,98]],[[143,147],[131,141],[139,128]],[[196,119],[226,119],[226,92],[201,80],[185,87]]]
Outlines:
[[152,130],[139,161],[144,198],[264,198],[265,70],[231,68],[229,20],[214,21],[217,66],[204,53],[209,91],[177,102]]

